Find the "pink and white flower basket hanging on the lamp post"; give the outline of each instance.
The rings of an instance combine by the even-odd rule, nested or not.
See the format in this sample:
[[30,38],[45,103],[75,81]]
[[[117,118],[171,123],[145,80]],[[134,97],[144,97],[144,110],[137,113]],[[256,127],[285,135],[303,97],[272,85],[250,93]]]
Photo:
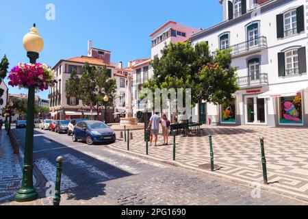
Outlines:
[[57,81],[54,78],[54,70],[46,64],[25,64],[20,63],[10,71],[8,84],[12,87],[29,88],[35,86],[39,90],[48,90],[55,86]]

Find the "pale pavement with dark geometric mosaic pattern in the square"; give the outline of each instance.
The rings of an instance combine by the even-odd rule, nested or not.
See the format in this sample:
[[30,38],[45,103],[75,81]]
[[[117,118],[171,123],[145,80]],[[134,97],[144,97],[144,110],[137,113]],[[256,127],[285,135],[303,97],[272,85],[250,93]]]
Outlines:
[[[132,131],[129,153],[145,155],[144,131]],[[213,133],[214,161],[220,170],[198,168],[209,164],[209,133]],[[119,135],[118,135],[119,136]],[[176,162],[172,162],[172,138],[169,146],[149,147],[149,159],[209,172],[233,181],[249,184],[263,181],[259,137],[264,137],[268,167],[265,189],[308,201],[308,129],[301,127],[205,127],[199,136],[177,136]],[[158,145],[162,144],[159,136]],[[110,145],[127,150],[124,140]]]

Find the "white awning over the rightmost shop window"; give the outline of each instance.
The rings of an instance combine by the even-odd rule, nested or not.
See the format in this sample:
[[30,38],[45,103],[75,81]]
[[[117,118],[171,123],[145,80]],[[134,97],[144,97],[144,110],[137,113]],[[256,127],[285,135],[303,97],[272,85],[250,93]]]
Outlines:
[[268,92],[259,94],[259,99],[265,99],[270,97],[280,97],[280,96],[296,96],[298,93],[307,89],[308,83],[289,83],[289,84],[279,84],[277,86],[270,87]]

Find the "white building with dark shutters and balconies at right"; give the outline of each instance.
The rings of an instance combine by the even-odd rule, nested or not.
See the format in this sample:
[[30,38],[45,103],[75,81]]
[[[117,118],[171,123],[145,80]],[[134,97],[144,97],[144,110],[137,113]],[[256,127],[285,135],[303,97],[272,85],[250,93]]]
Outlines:
[[192,36],[231,47],[241,90],[223,106],[203,103],[195,120],[214,124],[308,126],[306,0],[220,0],[224,21]]

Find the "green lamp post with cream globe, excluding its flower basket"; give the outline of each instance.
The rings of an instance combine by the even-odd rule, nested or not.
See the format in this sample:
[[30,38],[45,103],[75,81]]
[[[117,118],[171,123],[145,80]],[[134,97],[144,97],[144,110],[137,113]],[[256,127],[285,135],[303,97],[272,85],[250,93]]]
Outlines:
[[[44,47],[44,40],[38,34],[36,25],[23,38],[23,47],[27,51],[31,64],[36,64],[39,53]],[[23,162],[23,181],[21,189],[15,196],[16,202],[34,201],[38,198],[38,193],[33,186],[33,138],[34,138],[34,98],[35,86],[28,88],[28,108],[27,108],[27,127],[25,135],[25,151]]]

